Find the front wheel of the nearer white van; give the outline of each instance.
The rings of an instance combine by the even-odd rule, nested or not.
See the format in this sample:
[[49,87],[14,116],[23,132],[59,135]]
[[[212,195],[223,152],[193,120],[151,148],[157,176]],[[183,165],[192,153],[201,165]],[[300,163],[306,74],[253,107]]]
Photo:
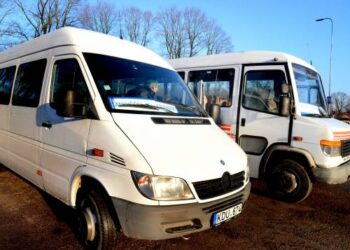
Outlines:
[[78,234],[87,249],[115,249],[117,230],[106,201],[95,189],[78,200]]

